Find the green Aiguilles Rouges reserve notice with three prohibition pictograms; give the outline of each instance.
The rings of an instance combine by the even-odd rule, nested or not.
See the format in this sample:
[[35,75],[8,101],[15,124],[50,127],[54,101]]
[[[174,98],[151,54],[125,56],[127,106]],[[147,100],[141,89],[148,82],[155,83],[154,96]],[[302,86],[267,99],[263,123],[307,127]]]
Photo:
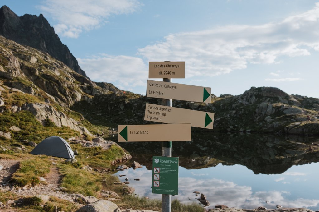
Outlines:
[[178,195],[178,165],[178,157],[153,156],[153,194]]

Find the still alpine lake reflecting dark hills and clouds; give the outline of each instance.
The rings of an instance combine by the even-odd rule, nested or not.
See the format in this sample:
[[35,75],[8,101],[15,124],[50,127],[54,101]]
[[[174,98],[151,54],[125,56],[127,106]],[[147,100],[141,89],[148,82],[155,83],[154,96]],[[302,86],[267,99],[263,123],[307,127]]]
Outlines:
[[[111,140],[117,142],[117,135]],[[161,142],[119,142],[142,168],[115,175],[135,194],[152,194],[152,156],[161,156]],[[172,157],[179,157],[178,195],[182,203],[201,204],[194,191],[210,202],[229,208],[264,206],[319,210],[319,137],[268,134],[192,132],[192,141],[172,142]],[[129,164],[126,164],[130,166]],[[134,179],[140,179],[136,181]],[[203,205],[204,206],[204,205]]]

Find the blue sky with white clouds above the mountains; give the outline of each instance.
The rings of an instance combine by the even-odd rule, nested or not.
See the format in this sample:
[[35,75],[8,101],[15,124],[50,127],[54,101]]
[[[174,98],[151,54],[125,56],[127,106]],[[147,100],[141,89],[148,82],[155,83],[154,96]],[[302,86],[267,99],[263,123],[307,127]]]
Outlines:
[[239,95],[271,86],[319,98],[318,0],[2,0],[42,13],[93,81],[146,93],[149,61],[185,61],[172,82]]

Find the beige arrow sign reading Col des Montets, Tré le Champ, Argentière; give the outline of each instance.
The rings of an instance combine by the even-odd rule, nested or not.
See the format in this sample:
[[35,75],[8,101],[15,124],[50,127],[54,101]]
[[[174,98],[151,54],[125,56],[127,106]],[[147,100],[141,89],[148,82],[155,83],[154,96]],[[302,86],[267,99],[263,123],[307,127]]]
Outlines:
[[192,127],[212,129],[214,113],[147,103],[144,120],[168,124],[190,123]]

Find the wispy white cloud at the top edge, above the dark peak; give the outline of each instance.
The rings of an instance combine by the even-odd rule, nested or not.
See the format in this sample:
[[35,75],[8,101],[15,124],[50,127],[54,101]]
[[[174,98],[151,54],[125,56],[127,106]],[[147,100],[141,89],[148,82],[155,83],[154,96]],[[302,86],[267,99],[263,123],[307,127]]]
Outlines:
[[39,8],[58,21],[57,34],[77,38],[82,31],[103,25],[109,16],[132,13],[141,5],[137,0],[45,0]]

